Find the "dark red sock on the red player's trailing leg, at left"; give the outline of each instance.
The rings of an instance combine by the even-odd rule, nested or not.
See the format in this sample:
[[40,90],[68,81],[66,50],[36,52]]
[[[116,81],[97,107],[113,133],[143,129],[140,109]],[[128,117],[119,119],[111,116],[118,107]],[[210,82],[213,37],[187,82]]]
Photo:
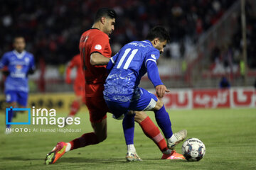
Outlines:
[[71,140],[71,148],[70,150],[77,149],[79,147],[85,147],[87,145],[95,145],[98,144],[99,140],[95,135],[95,132],[85,133],[81,137],[76,138],[75,140]]

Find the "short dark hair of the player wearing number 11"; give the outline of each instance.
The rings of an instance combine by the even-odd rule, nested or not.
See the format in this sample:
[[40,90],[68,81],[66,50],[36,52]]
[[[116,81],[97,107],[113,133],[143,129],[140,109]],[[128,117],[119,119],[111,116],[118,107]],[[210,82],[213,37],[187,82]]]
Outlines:
[[154,26],[146,35],[146,40],[154,40],[155,38],[159,38],[160,41],[167,40],[167,42],[171,40],[169,33],[163,26]]

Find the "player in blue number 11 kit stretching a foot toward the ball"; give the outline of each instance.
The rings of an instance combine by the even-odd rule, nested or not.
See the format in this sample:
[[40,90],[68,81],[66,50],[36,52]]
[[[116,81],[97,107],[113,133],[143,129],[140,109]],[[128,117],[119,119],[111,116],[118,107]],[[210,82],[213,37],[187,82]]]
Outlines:
[[[169,114],[163,102],[154,94],[138,87],[142,76],[147,72],[160,99],[169,92],[161,82],[156,66],[156,60],[164,52],[167,42],[169,33],[163,27],[156,26],[149,31],[146,40],[124,45],[107,64],[110,74],[105,81],[103,94],[115,118],[121,117],[120,113],[125,115],[122,125],[128,149],[127,161],[141,160],[134,147],[134,111],[154,111],[156,122],[166,137],[169,149],[174,149],[186,138],[186,130],[173,134]],[[137,159],[134,160],[134,156]]]

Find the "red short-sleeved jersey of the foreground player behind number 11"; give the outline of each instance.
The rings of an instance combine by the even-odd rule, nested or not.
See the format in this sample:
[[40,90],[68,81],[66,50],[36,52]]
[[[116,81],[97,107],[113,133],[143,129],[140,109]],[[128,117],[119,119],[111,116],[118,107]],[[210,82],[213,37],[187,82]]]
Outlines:
[[85,75],[85,96],[102,96],[103,84],[107,79],[106,66],[93,66],[90,64],[90,55],[93,52],[99,52],[101,55],[110,58],[112,53],[110,38],[101,30],[92,28],[82,33],[79,49],[82,70]]

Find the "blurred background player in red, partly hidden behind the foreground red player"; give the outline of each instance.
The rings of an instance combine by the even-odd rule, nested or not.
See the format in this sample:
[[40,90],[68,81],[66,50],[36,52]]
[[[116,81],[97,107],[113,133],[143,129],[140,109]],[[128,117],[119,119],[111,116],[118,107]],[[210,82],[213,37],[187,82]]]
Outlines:
[[78,113],[82,103],[85,103],[85,77],[82,73],[82,62],[80,54],[75,55],[73,59],[68,63],[65,77],[65,82],[67,84],[71,84],[72,82],[70,79],[70,72],[74,67],[77,69],[73,85],[75,91],[75,100],[71,104],[71,109],[68,117],[73,117],[76,113]]

